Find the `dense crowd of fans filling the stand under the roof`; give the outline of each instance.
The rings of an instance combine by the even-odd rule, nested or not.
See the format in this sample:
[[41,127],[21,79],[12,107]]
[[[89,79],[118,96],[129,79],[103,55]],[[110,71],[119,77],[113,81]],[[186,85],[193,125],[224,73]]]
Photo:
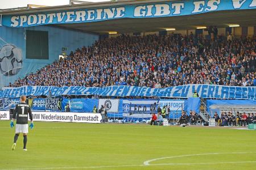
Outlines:
[[9,86],[256,86],[255,51],[255,40],[246,38],[122,35],[77,49]]

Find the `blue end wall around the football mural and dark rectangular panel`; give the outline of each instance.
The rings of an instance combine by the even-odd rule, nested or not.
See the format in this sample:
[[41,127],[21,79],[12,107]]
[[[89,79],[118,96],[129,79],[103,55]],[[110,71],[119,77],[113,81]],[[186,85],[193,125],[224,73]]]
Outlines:
[[[49,59],[26,59],[26,30],[48,31]],[[67,54],[69,54],[71,50],[92,45],[98,38],[98,35],[49,26],[29,28],[0,27],[0,49],[6,42],[14,44],[22,50],[23,59],[22,69],[16,75],[5,76],[0,74],[0,88],[59,59],[62,47],[67,47]]]

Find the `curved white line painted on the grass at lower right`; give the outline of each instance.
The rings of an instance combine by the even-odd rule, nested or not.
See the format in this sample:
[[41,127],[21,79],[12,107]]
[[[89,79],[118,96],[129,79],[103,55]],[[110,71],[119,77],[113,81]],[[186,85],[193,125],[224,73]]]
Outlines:
[[183,157],[188,157],[188,156],[220,155],[220,154],[254,154],[254,153],[256,153],[256,152],[223,152],[223,153],[207,153],[207,154],[178,155],[178,156],[168,156],[168,157],[162,157],[162,158],[156,158],[156,159],[146,160],[143,164],[144,164],[144,165],[150,165],[150,162],[154,162],[154,161],[156,161],[156,160],[171,159],[171,158],[183,158]]

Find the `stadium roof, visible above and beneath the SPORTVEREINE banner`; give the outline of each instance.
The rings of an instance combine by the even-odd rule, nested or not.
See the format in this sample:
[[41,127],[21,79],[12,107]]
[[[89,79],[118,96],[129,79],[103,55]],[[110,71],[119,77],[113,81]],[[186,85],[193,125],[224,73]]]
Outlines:
[[[175,1],[175,0],[172,0]],[[139,5],[152,2],[166,2],[166,0],[154,1],[118,1],[118,2],[99,2],[99,3],[85,3],[78,5],[65,5],[54,7],[40,7],[40,8],[14,8],[8,10],[0,10],[2,15],[17,15],[17,14],[31,14],[35,12],[49,12],[60,10],[75,10],[79,8],[96,8],[107,6],[121,6],[121,5]],[[256,10],[232,10],[232,11],[215,11],[205,14],[185,15],[185,16],[171,16],[163,18],[143,18],[143,19],[113,19],[101,22],[92,23],[73,23],[73,24],[55,24],[57,27],[64,27],[68,29],[78,29],[84,32],[93,33],[107,33],[116,31],[118,33],[132,33],[132,32],[151,32],[161,31],[164,28],[179,29],[195,29],[196,27],[216,25],[217,27],[228,27],[229,24],[239,24],[240,26],[254,26],[256,25]],[[54,24],[53,24],[54,25]]]

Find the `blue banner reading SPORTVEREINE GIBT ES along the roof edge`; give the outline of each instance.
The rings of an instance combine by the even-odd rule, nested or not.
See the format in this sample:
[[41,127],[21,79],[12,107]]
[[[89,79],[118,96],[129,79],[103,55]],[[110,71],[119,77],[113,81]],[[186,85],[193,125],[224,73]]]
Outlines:
[[2,25],[30,27],[44,24],[88,23],[120,18],[157,18],[256,8],[256,0],[193,0],[86,8],[36,14],[3,15]]

